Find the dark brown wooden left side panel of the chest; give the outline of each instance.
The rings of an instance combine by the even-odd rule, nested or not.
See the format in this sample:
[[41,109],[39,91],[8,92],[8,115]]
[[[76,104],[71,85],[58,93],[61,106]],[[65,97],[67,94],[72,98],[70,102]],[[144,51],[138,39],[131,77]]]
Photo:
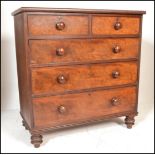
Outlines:
[[14,20],[20,112],[26,120],[26,123],[31,127],[31,96],[29,95],[30,83],[28,80],[27,51],[24,38],[24,15],[18,14],[14,17]]

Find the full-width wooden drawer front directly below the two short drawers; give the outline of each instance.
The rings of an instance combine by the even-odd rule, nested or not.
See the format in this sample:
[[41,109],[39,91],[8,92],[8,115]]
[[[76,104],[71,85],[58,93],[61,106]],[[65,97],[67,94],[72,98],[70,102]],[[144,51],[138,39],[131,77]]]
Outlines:
[[31,40],[31,63],[75,63],[138,57],[139,38]]

